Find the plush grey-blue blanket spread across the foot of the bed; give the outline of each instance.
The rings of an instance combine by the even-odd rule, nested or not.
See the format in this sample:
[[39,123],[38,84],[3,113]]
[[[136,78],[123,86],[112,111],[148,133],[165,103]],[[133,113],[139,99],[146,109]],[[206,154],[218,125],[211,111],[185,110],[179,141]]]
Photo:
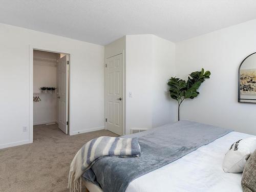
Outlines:
[[138,158],[104,157],[88,169],[83,178],[99,185],[104,192],[123,192],[131,181],[197,150],[231,130],[191,121],[166,124],[139,134]]

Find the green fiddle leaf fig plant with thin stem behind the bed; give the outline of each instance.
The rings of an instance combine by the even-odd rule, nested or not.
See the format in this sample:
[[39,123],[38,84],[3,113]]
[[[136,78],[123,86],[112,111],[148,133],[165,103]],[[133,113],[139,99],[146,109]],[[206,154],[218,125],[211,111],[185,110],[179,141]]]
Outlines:
[[210,78],[210,72],[195,71],[189,74],[187,81],[171,77],[168,81],[170,97],[178,102],[178,121],[180,120],[180,105],[184,99],[194,99],[199,95],[197,91],[205,79]]

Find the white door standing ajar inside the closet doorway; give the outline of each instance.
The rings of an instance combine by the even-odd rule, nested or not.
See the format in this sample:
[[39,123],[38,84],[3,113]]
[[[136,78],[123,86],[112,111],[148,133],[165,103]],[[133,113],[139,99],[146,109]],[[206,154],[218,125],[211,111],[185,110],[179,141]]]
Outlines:
[[59,129],[68,134],[68,121],[67,121],[67,56],[59,59],[57,66],[57,89],[58,89],[58,127]]

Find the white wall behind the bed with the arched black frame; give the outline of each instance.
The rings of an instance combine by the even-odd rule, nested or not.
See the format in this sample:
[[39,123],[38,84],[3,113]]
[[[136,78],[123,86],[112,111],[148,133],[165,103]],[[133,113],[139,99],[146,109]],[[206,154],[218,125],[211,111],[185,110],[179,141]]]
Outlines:
[[211,77],[200,95],[181,105],[181,119],[229,127],[256,135],[256,105],[238,103],[238,67],[256,51],[256,20],[201,35],[176,44],[177,77],[202,67]]

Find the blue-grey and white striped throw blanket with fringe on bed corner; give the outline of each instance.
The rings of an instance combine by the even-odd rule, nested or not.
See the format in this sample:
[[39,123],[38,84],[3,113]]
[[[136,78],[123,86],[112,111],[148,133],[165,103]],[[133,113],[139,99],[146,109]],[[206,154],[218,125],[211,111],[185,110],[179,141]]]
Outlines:
[[81,191],[81,176],[93,163],[104,156],[138,157],[138,138],[98,137],[82,146],[70,165],[68,188]]

